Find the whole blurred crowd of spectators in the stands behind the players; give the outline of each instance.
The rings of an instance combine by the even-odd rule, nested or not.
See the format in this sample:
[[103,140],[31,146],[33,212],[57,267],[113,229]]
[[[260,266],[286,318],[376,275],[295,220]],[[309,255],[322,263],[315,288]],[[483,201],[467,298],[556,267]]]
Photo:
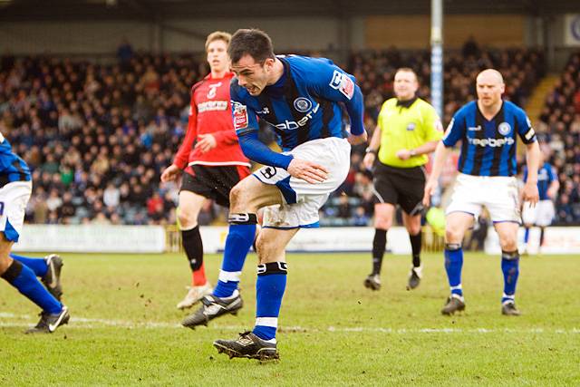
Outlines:
[[[179,184],[161,184],[160,172],[171,163],[187,130],[190,86],[208,73],[208,66],[203,55],[133,53],[127,43],[118,55],[113,64],[2,57],[0,132],[33,170],[27,221],[175,222]],[[545,72],[543,55],[530,50],[480,50],[472,43],[445,57],[444,123],[460,105],[475,98],[475,76],[481,69],[498,68],[507,81],[507,99],[520,105]],[[557,164],[560,159],[555,161],[564,179],[558,206],[571,208],[569,217],[576,218],[570,219],[580,219],[573,205],[578,203],[580,179],[578,62],[577,56],[571,60],[560,86],[548,97],[543,117],[549,127],[546,136],[555,133],[548,139],[550,146],[557,150],[559,144],[561,149],[555,154],[564,155],[564,165]],[[370,135],[382,102],[393,95],[392,78],[401,66],[419,74],[419,94],[428,99],[427,51],[393,48],[353,53],[346,65],[365,95]],[[569,79],[575,80],[573,91]],[[271,139],[267,131],[262,138]],[[372,173],[362,167],[363,151],[364,146],[353,150],[351,172],[343,187],[321,210],[323,224],[370,224]],[[200,224],[223,219],[223,215],[223,210],[208,203]]]

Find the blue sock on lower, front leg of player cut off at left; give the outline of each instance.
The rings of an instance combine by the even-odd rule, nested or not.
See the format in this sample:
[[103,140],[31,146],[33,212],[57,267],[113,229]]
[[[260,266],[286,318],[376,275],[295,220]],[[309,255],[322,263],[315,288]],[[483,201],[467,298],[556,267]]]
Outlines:
[[63,310],[63,305],[48,293],[28,266],[14,260],[2,277],[34,304],[40,306],[44,312],[57,314]]

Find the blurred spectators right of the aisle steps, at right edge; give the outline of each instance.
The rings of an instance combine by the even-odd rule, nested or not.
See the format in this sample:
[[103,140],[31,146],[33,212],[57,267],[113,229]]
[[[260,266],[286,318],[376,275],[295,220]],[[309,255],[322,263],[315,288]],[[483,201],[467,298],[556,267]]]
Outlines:
[[536,126],[545,153],[558,171],[556,223],[580,223],[580,53],[573,54]]

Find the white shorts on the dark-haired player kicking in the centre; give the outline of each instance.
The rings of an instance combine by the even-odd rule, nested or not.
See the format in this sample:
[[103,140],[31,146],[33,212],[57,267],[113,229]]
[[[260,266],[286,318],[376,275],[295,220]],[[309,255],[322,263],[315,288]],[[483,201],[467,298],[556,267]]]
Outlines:
[[310,184],[296,179],[287,170],[263,167],[254,172],[256,179],[275,185],[284,198],[282,205],[264,208],[266,228],[319,227],[318,210],[330,194],[343,184],[351,165],[351,145],[345,139],[329,137],[311,140],[285,152],[296,159],[313,161],[328,169],[328,179]]

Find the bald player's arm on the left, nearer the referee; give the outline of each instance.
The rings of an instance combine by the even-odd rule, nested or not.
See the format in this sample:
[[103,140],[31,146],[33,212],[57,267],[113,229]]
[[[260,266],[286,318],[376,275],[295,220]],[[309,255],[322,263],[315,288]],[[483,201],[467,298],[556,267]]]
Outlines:
[[431,195],[435,193],[435,189],[439,186],[439,177],[441,175],[441,170],[443,170],[443,165],[445,165],[445,160],[447,160],[453,150],[453,146],[464,137],[465,135],[465,120],[461,116],[460,111],[458,111],[453,119],[449,122],[447,131],[443,135],[443,138],[437,144],[435,148],[435,157],[433,158],[433,166],[431,168],[431,174],[427,182],[425,183],[425,192],[423,195],[423,205],[429,207]]

